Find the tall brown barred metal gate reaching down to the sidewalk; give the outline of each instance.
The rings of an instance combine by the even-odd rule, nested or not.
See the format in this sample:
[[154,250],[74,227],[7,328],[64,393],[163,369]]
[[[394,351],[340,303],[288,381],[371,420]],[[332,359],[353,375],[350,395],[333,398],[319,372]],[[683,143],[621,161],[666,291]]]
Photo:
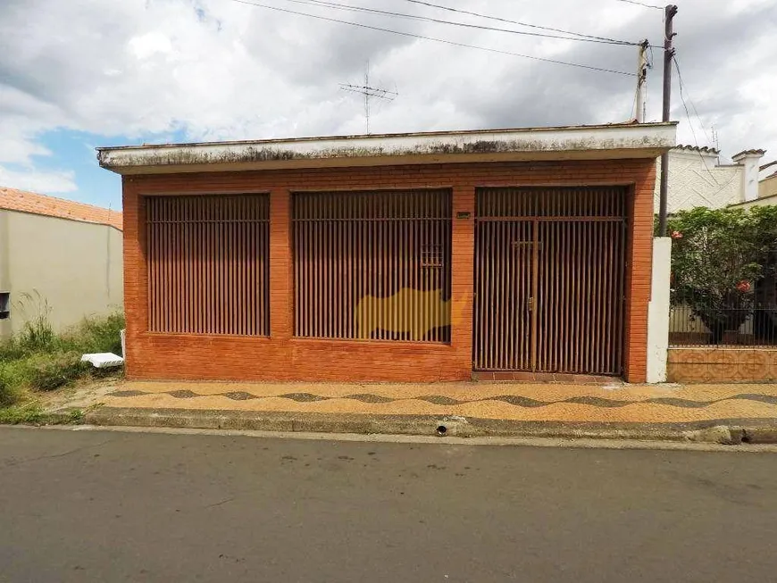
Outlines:
[[473,368],[620,374],[626,188],[476,195]]

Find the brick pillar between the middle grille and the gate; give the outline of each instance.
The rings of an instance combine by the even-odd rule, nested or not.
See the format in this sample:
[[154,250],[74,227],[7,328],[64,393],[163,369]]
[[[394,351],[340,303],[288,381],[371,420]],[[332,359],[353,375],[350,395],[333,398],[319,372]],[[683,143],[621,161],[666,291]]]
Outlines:
[[[457,218],[468,212],[468,218]],[[475,188],[455,187],[453,191],[453,233],[451,247],[451,347],[461,378],[472,377],[472,290],[475,253]],[[460,364],[459,364],[460,362]]]

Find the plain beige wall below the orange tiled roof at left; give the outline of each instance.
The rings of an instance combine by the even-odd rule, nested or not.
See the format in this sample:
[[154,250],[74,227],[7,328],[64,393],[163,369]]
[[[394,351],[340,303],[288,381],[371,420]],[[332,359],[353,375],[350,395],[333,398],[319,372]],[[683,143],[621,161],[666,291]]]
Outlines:
[[0,210],[0,291],[10,291],[12,301],[0,336],[18,331],[25,315],[38,311],[37,305],[22,308],[25,293],[46,300],[55,329],[121,309],[121,245],[122,233],[113,227]]

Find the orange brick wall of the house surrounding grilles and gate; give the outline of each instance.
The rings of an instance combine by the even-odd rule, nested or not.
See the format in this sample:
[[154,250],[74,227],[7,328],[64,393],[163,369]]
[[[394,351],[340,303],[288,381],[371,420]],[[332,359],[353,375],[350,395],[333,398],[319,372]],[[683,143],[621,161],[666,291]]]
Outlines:
[[[653,160],[492,162],[371,168],[186,173],[123,180],[127,375],[130,379],[462,380],[472,376],[472,258],[476,186],[630,185],[625,377],[645,380],[652,255]],[[289,193],[295,190],[453,188],[453,293],[465,299],[450,345],[292,337]],[[271,336],[147,332],[144,195],[269,192]]]

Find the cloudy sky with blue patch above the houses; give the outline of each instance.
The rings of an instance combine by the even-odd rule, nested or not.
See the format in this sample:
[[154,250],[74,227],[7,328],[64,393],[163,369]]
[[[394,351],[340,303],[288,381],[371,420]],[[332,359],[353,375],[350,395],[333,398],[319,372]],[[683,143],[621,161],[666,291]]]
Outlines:
[[[362,6],[480,27],[629,42],[648,38],[648,115],[661,118],[663,11],[655,0],[0,0],[0,186],[113,209],[121,179],[96,146],[496,129],[630,120],[637,48],[343,10]],[[452,46],[315,16],[514,54]],[[336,5],[333,5],[336,4]],[[777,157],[777,0],[677,0],[678,142]],[[652,7],[651,7],[652,6]],[[771,38],[770,38],[771,37]],[[683,103],[684,98],[684,103]],[[688,110],[686,112],[686,109]]]

